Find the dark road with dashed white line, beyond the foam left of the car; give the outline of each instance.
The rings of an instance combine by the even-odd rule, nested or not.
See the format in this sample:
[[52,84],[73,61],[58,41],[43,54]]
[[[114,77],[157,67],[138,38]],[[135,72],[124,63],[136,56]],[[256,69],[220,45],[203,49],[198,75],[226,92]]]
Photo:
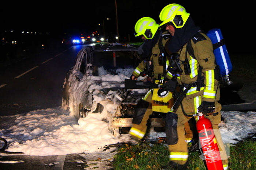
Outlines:
[[30,58],[0,68],[0,116],[61,106],[65,75],[85,46],[41,49]]

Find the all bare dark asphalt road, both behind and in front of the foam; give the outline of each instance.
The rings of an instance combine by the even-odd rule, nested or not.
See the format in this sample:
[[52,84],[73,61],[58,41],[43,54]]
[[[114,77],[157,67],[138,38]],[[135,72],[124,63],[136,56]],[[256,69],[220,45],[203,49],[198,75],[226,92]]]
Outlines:
[[[89,44],[90,45],[90,44]],[[30,58],[0,68],[0,116],[61,106],[62,86],[76,55],[85,46],[41,49]],[[83,170],[79,154],[60,156],[0,153],[1,170]]]

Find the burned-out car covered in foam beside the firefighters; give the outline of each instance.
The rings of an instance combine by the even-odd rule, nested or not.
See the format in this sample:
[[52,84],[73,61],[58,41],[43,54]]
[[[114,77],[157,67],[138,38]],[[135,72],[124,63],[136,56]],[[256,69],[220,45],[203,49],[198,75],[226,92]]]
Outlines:
[[[136,104],[148,91],[124,88],[124,80],[140,62],[137,51],[136,46],[117,43],[83,48],[65,77],[62,108],[77,119],[106,114],[104,121],[114,135],[121,127],[131,127]],[[151,126],[162,127],[162,122],[152,119]]]

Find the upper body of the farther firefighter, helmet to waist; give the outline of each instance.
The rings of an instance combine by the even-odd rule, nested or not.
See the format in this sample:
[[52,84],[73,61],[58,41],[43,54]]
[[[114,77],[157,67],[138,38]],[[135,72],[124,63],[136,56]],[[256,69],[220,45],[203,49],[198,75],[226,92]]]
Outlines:
[[[142,62],[132,73],[131,79],[136,80],[140,75],[153,76],[155,79],[162,79],[163,75],[163,57],[159,49],[159,40],[162,37],[162,45],[164,47],[170,35],[167,31],[162,32],[158,29],[159,25],[150,17],[143,17],[135,24],[136,37],[141,36],[144,43],[139,47],[139,54]],[[168,63],[166,63],[168,64]],[[171,79],[172,75],[167,75]]]

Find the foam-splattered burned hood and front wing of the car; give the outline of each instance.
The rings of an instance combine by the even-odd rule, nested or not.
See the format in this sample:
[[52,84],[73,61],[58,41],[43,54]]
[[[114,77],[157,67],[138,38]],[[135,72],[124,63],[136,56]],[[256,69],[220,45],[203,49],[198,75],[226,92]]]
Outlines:
[[[124,69],[123,72],[127,72],[127,75],[129,75],[131,71]],[[79,74],[78,70],[73,70],[69,76],[69,79],[74,79],[69,81],[73,82],[71,86],[73,92],[70,98],[76,99],[70,100],[76,103],[69,104],[74,106],[82,104],[83,108],[88,111],[95,111],[97,104],[101,101],[109,101],[117,105],[121,103],[137,104],[147,91],[146,89],[125,90],[124,80],[129,78],[123,74],[99,74],[99,76],[93,76],[89,70],[86,75],[80,77],[79,80],[75,80]],[[121,98],[120,100],[117,100],[118,96]]]

